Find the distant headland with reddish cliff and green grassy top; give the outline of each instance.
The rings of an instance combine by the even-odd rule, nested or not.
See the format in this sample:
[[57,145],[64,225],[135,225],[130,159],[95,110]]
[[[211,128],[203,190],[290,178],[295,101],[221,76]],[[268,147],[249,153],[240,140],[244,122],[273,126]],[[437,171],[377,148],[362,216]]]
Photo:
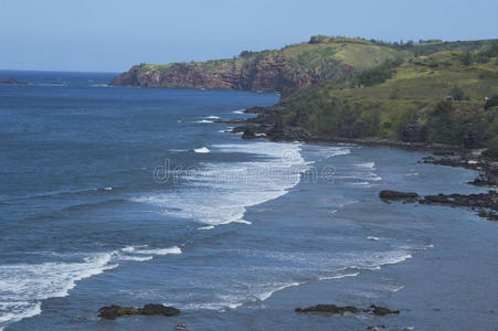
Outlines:
[[230,60],[140,64],[118,75],[113,85],[170,88],[239,89],[287,93],[337,82],[406,53],[360,39],[330,38],[248,52]]

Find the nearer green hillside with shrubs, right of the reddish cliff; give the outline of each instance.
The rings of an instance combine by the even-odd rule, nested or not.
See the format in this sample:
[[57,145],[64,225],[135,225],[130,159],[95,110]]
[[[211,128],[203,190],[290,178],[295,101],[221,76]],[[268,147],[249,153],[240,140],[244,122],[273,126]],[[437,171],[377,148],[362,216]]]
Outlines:
[[432,54],[296,90],[272,108],[274,121],[314,139],[378,137],[488,147],[498,156],[497,44],[447,50],[442,43],[442,51],[431,44]]

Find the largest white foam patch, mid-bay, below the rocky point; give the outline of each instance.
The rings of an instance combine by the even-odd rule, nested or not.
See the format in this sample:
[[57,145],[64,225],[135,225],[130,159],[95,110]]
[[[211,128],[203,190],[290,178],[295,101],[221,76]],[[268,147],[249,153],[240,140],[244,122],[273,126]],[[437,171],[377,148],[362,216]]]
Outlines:
[[250,153],[253,161],[205,163],[189,178],[189,185],[135,201],[163,207],[165,214],[209,225],[240,222],[246,207],[287,193],[308,169],[300,143],[251,142],[212,146],[216,152]]

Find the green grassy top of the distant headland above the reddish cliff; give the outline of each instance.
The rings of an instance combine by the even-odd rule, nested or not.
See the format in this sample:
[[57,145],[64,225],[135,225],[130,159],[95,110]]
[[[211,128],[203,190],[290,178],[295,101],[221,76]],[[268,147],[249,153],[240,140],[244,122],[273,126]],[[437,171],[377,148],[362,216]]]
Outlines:
[[[345,43],[345,41],[347,43]],[[405,57],[406,51],[386,45],[377,45],[362,39],[331,39],[325,43],[299,43],[282,50],[241,53],[241,56],[206,62],[140,64],[142,73],[168,74],[179,66],[197,67],[209,75],[242,73],[251,75],[265,64],[278,64],[289,81],[306,79],[309,75],[324,77],[321,81],[336,79],[348,68],[361,71],[377,66],[388,58]]]

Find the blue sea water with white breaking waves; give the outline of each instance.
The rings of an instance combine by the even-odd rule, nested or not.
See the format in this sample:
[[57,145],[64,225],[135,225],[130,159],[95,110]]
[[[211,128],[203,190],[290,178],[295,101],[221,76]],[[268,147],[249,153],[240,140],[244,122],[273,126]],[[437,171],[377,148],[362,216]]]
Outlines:
[[[275,104],[276,94],[0,72],[30,84],[0,85],[0,329],[326,330],[330,320],[293,309],[318,298],[386,302],[412,282],[402,268],[383,270],[444,246],[453,225],[438,220],[477,224],[483,249],[492,247],[496,226],[473,212],[378,199],[385,188],[483,191],[465,184],[470,171],[390,148],[244,141],[215,122],[250,117],[241,110]],[[496,271],[495,257],[475,268]],[[150,302],[182,314],[97,318],[103,306]],[[410,323],[427,325],[416,317]]]

